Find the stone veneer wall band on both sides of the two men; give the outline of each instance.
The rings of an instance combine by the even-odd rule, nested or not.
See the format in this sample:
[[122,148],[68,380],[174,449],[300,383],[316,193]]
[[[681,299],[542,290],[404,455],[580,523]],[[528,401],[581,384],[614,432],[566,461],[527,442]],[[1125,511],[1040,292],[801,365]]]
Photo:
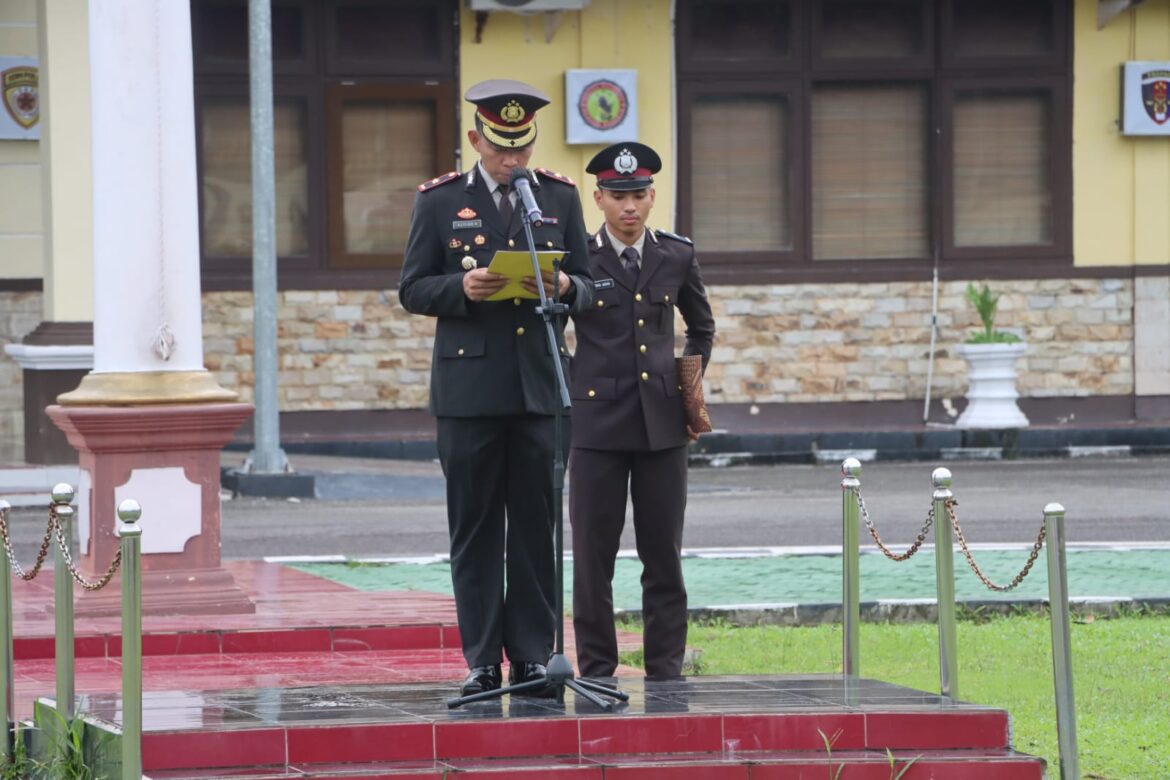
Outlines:
[[[965,391],[954,347],[978,326],[965,287],[940,288],[934,398]],[[1003,296],[997,326],[1028,343],[1021,395],[1134,392],[1130,279],[1012,279],[992,290]],[[921,399],[930,292],[929,282],[713,287],[708,400]],[[243,400],[252,398],[250,305],[247,292],[204,295],[206,365]],[[402,311],[395,291],[283,292],[280,320],[282,409],[426,407],[434,322]]]

